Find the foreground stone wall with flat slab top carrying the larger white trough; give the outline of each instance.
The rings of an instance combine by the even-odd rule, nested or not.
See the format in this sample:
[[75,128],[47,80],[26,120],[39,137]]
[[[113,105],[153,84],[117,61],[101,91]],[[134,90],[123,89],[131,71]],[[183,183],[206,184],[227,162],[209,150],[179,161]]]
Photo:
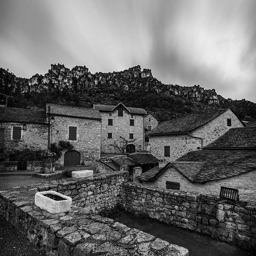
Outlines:
[[[91,214],[120,203],[128,172],[66,179],[0,192],[0,214],[48,256],[158,255],[188,256],[188,250],[109,218]],[[38,191],[70,195],[67,214],[49,214],[34,205]],[[94,206],[94,207],[93,207]],[[90,209],[89,209],[89,208]]]

